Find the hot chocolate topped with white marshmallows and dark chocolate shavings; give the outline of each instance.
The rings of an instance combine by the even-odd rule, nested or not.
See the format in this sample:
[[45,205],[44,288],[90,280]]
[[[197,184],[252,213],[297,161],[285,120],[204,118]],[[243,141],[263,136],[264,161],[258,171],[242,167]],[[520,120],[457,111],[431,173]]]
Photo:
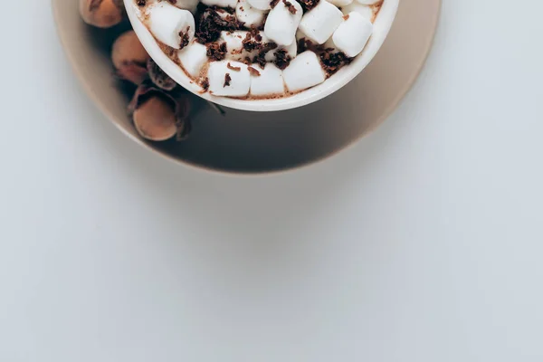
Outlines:
[[386,0],[134,0],[167,56],[202,91],[288,97],[362,52]]

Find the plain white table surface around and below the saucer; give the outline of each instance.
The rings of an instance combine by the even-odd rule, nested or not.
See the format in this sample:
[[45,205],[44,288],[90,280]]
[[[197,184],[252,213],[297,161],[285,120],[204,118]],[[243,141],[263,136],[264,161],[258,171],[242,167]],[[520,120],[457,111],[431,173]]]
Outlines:
[[124,137],[8,2],[0,361],[543,360],[543,3],[443,3],[380,129],[238,178]]

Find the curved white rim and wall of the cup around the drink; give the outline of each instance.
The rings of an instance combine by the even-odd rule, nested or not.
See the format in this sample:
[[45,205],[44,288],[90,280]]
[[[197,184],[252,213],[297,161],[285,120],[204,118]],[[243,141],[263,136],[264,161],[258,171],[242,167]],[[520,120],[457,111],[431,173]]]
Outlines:
[[210,100],[214,103],[236,110],[252,111],[290,110],[301,107],[329,96],[333,92],[341,89],[349,81],[352,81],[358,73],[363,71],[367,64],[373,60],[378,50],[385,42],[386,36],[395,20],[398,2],[399,0],[384,0],[381,10],[377,14],[374,22],[374,33],[367,42],[364,51],[358,54],[355,60],[348,66],[341,68],[338,72],[329,77],[328,80],[289,97],[268,100],[240,100],[217,97],[208,92],[202,93],[200,86],[195,84],[195,82],[192,81],[192,79],[189,78],[175,62],[162,52],[155,41],[155,38],[148,31],[147,26],[140,21],[138,17],[139,8],[134,0],[124,0],[130,23],[134,27],[134,31],[138,34],[139,40],[146,48],[149,55],[157,62],[158,66],[167,73],[167,75],[182,87],[186,88],[186,90],[190,90],[195,95],[202,97],[205,100]]

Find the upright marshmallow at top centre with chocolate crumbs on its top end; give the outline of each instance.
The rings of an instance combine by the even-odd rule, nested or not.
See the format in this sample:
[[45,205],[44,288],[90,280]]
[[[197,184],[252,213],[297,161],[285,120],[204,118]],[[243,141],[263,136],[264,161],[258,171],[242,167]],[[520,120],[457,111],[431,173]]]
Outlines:
[[[293,6],[294,14],[285,3]],[[280,0],[268,14],[266,24],[264,24],[264,33],[278,45],[291,45],[294,42],[302,14],[301,5],[296,0]]]

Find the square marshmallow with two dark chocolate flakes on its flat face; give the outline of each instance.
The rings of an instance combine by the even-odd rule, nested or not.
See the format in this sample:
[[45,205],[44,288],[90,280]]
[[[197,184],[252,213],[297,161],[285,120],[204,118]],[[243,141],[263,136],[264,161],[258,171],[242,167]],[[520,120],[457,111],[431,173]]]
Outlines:
[[[231,68],[240,68],[240,70],[233,71]],[[243,97],[249,93],[251,87],[251,75],[247,65],[243,62],[210,62],[207,78],[209,79],[209,92],[215,96]],[[225,85],[225,83],[229,83],[229,85]]]

